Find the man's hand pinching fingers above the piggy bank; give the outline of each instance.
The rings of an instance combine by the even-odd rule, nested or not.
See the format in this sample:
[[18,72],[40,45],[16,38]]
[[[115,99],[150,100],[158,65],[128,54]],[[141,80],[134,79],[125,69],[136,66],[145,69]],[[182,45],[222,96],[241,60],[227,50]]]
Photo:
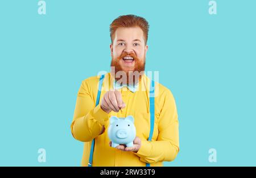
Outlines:
[[124,107],[125,103],[119,91],[109,91],[104,94],[101,101],[101,109],[106,113],[110,113],[110,111],[118,113],[120,108],[123,109]]

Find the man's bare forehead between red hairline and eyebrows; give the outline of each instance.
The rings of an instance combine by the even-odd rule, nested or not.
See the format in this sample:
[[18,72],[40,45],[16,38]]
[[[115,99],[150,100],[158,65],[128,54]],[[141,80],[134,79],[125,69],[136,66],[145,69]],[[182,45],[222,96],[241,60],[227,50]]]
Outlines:
[[119,27],[115,31],[114,34],[114,41],[117,41],[118,39],[122,40],[134,40],[134,39],[140,39],[143,40],[143,31],[139,27]]

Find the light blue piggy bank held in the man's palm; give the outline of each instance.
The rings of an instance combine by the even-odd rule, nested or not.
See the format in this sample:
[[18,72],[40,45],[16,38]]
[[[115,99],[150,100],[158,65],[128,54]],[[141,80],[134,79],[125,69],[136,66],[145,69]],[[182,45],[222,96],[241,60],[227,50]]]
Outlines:
[[136,136],[134,118],[131,115],[126,118],[110,117],[108,135],[112,141],[112,147],[116,147],[119,144],[133,147],[133,140]]

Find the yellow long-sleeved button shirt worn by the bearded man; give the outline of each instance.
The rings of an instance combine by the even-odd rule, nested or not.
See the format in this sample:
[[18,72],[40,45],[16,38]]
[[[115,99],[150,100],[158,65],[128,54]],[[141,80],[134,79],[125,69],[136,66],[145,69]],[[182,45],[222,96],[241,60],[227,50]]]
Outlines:
[[[84,142],[82,166],[88,166],[90,146],[95,138],[93,166],[162,166],[164,161],[172,161],[179,152],[179,122],[174,97],[169,89],[155,83],[155,124],[152,141],[147,141],[150,133],[150,105],[149,89],[150,79],[144,74],[139,82],[138,90],[133,93],[126,87],[120,89],[122,100],[126,107],[115,113],[109,114],[101,109],[101,99],[106,92],[113,89],[114,78],[107,73],[100,97],[100,104],[96,105],[99,76],[89,77],[82,81],[77,101],[73,122],[72,135],[75,139]],[[108,137],[109,118],[127,117],[133,115],[136,127],[136,136],[141,138],[141,148],[137,153],[121,151],[110,147]],[[104,133],[101,133],[102,127]]]

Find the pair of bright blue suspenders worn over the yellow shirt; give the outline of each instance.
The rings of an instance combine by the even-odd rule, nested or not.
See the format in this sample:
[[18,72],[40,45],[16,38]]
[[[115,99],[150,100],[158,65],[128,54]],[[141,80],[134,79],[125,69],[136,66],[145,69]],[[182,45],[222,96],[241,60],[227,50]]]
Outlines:
[[[100,82],[98,84],[96,106],[100,102],[101,88],[102,88],[102,83],[103,83],[104,77],[105,77],[105,74],[103,74],[100,77]],[[151,81],[151,82],[152,83],[150,85],[150,135],[148,137],[148,141],[152,140],[152,135],[154,132],[154,120],[155,120],[155,82],[154,81]],[[88,167],[92,167],[94,143],[95,143],[95,139],[92,140],[92,145],[90,146],[90,157],[89,157]],[[146,163],[146,167],[150,167],[150,164]]]

